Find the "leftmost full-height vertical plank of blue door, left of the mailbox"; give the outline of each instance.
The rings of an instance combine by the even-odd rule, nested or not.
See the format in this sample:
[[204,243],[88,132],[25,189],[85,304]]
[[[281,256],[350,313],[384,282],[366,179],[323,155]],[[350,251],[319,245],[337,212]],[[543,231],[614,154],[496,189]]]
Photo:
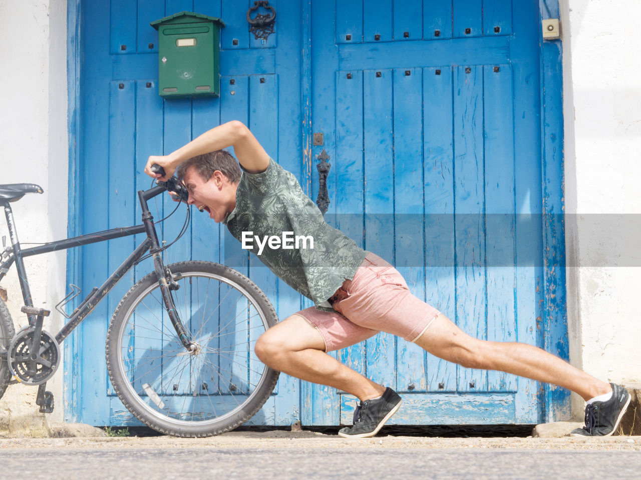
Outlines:
[[[109,171],[109,111],[110,111],[110,68],[103,59],[109,56],[110,6],[107,3],[85,5],[85,22],[95,24],[94,35],[88,35],[84,51],[96,52],[85,61],[85,82],[82,87],[83,112],[80,115],[81,145],[79,158],[80,175],[76,180],[79,188],[80,205],[79,234],[98,232],[108,228],[108,216],[96,214],[96,208],[108,198]],[[83,56],[84,57],[84,56]],[[87,86],[91,86],[88,88]],[[96,181],[96,179],[102,179]],[[102,285],[110,275],[108,271],[107,243],[95,243],[80,248],[81,278],[79,286],[88,294],[94,286]],[[113,312],[108,312],[106,301],[102,301],[91,316],[78,327],[77,353],[79,377],[74,379],[78,403],[73,408],[78,419],[99,425],[108,417],[108,404],[104,401],[106,369],[104,368],[104,328]],[[102,335],[102,336],[101,336]]]

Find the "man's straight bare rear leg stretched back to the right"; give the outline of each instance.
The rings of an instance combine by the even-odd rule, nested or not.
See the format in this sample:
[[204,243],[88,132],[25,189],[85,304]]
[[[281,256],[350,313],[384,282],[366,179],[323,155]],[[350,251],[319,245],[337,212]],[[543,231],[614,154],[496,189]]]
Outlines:
[[499,370],[553,383],[589,400],[612,392],[609,383],[572,367],[540,348],[515,342],[490,342],[470,337],[440,314],[416,341],[432,355],[474,369]]

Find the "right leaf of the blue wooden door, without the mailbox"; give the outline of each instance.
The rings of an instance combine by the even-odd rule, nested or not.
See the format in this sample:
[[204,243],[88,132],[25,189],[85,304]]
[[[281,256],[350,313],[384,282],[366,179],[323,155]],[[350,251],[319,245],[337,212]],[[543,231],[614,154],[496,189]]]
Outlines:
[[[311,17],[312,130],[324,134],[312,154],[324,148],[332,164],[326,218],[470,335],[542,344],[538,3],[312,3]],[[387,333],[337,357],[401,393],[395,423],[541,418],[536,382]],[[303,424],[351,422],[344,392],[306,385],[304,399]]]

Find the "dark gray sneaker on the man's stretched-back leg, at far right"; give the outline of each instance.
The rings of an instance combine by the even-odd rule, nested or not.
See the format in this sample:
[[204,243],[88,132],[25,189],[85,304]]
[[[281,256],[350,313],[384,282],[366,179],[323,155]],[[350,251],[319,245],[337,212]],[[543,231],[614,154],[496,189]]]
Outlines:
[[623,414],[630,404],[628,390],[612,385],[612,398],[604,402],[594,402],[585,407],[585,427],[575,428],[572,436],[610,436],[619,426]]

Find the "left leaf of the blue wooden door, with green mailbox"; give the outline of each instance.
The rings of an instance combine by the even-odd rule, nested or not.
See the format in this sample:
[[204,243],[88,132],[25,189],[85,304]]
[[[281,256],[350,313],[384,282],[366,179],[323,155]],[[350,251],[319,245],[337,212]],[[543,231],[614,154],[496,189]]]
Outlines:
[[[139,224],[135,192],[151,184],[143,173],[147,156],[168,154],[229,120],[249,125],[271,156],[301,176],[301,8],[297,0],[270,4],[278,12],[278,24],[276,33],[263,42],[249,33],[246,14],[253,6],[249,0],[83,3],[82,143],[76,177],[79,233]],[[219,98],[162,100],[158,95],[158,33],[149,22],[183,10],[220,17],[226,24],[221,31]],[[152,202],[154,218],[169,214],[174,206],[167,198]],[[185,236],[167,251],[166,262],[226,263],[265,291],[279,317],[303,308],[301,296],[255,258],[249,259],[226,228],[194,213]],[[184,220],[183,211],[163,222],[166,241],[177,236]],[[100,285],[138,241],[140,237],[129,237],[81,249],[76,282],[85,292]],[[108,380],[104,338],[124,293],[152,269],[151,262],[138,265],[70,339],[67,418],[94,425],[137,423]],[[72,278],[73,272],[72,268]],[[299,381],[281,376],[274,396],[254,422],[290,424],[299,419],[299,396]]]

